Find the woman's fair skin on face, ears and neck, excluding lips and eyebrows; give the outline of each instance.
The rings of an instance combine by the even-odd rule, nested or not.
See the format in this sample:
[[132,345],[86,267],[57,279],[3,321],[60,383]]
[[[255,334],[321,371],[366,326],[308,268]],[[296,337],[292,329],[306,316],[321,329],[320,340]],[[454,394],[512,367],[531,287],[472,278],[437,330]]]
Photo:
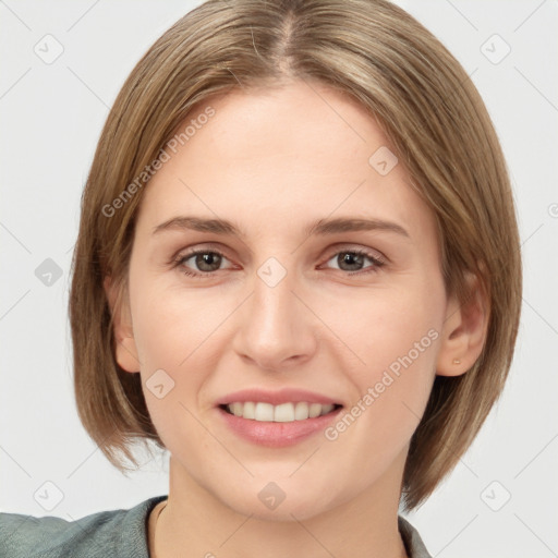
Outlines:
[[[389,143],[352,99],[292,82],[210,106],[216,114],[143,194],[122,306],[105,282],[117,360],[141,373],[170,451],[168,505],[156,531],[159,508],[150,518],[151,556],[407,556],[397,513],[409,442],[436,374],[463,374],[480,355],[484,302],[465,307],[447,295],[434,214],[402,163],[387,175],[368,163]],[[180,215],[231,220],[245,238],[153,234]],[[305,235],[328,217],[389,220],[409,238]],[[189,247],[217,248],[225,258],[214,259],[211,277],[186,277],[184,269],[208,269],[195,257],[172,267]],[[354,248],[386,263],[374,268],[364,257],[343,267]],[[269,257],[287,270],[272,288],[257,275]],[[257,446],[215,408],[239,389],[289,386],[351,409],[428,330],[437,339],[332,441],[317,433],[287,448]],[[160,368],[174,381],[162,399],[145,388]],[[271,481],[286,495],[275,510],[258,498]]]

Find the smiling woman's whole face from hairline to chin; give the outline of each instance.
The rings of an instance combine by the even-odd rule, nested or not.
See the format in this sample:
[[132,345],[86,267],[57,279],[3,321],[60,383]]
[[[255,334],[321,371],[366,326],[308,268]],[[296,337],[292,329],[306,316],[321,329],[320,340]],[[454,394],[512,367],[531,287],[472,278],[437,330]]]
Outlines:
[[207,106],[143,194],[118,326],[171,478],[279,520],[399,499],[447,337],[434,215],[332,89]]

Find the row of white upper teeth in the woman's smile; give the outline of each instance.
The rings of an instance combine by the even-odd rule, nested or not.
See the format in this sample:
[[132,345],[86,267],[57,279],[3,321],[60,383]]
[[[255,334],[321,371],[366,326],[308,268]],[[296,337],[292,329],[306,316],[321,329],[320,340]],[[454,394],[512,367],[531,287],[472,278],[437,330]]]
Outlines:
[[304,421],[322,416],[333,410],[333,405],[322,403],[281,403],[272,405],[271,403],[246,401],[245,403],[235,401],[227,405],[227,410],[243,418],[253,421],[292,423],[294,421]]

